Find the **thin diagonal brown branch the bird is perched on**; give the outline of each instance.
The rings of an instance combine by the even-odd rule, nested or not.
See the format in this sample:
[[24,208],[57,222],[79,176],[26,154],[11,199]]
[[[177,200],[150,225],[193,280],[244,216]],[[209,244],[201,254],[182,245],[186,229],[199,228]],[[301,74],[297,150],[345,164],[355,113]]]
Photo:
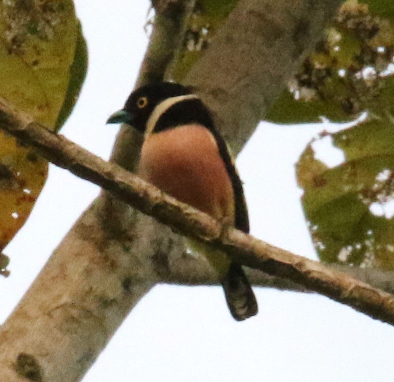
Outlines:
[[111,191],[119,199],[184,235],[225,250],[234,260],[278,276],[394,325],[394,296],[353,277],[271,246],[165,194],[116,164],[0,104],[0,128],[46,159]]

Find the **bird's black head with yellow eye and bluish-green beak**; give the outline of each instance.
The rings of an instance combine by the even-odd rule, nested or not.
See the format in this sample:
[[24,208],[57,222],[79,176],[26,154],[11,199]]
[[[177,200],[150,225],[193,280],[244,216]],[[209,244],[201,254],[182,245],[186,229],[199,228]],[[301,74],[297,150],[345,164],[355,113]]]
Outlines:
[[191,88],[173,82],[145,85],[133,91],[125,106],[112,114],[107,123],[127,123],[142,133],[155,107],[170,97],[192,94]]

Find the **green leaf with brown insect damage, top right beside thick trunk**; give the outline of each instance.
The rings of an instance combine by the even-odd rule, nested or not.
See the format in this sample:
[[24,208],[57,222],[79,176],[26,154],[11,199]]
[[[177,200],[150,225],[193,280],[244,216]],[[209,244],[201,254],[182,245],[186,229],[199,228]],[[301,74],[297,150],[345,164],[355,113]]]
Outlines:
[[[383,1],[387,3],[387,1]],[[383,7],[382,2],[382,7]],[[394,23],[378,1],[346,1],[326,36],[307,57],[266,119],[277,123],[354,120],[360,113],[394,114]],[[393,16],[394,1],[385,15]],[[391,20],[391,21],[390,21]]]

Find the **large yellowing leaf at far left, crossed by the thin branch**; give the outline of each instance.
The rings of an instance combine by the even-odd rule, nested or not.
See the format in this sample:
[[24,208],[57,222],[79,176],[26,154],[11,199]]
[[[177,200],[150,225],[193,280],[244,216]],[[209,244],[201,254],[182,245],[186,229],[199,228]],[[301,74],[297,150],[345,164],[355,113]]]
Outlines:
[[[71,0],[0,2],[0,97],[11,107],[58,130],[86,61]],[[28,217],[46,176],[46,161],[0,132],[0,250]]]

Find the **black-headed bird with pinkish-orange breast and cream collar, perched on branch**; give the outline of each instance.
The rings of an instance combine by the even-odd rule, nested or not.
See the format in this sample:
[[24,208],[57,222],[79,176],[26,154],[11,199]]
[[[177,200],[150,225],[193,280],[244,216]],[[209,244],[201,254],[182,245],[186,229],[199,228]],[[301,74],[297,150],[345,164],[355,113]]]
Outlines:
[[[249,232],[243,186],[229,148],[191,86],[144,85],[107,123],[126,123],[144,135],[140,177],[222,224]],[[240,264],[195,239],[187,238],[187,247],[204,255],[216,271],[235,320],[257,314],[256,298]]]

